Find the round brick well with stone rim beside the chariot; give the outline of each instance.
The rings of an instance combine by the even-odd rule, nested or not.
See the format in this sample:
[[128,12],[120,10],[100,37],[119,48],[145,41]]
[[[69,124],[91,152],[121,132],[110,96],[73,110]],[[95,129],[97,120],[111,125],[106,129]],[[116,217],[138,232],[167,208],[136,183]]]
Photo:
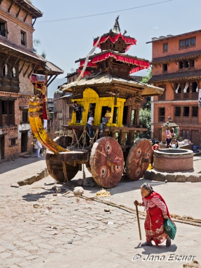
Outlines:
[[161,172],[192,172],[193,152],[185,149],[154,150],[153,168]]

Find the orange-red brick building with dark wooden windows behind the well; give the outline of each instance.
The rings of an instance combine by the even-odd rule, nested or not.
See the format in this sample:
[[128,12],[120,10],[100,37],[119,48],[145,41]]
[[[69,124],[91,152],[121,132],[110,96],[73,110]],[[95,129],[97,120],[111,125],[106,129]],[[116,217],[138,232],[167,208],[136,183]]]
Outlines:
[[171,117],[180,137],[200,146],[201,30],[152,38],[152,78],[164,94],[152,98],[152,134],[164,141],[161,126]]

